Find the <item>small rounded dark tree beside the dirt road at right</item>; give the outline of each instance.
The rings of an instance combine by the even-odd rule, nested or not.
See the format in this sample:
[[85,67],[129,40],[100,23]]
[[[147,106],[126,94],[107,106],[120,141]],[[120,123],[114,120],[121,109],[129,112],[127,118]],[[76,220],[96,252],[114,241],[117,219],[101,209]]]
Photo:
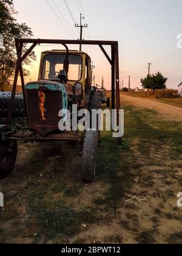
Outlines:
[[156,90],[166,89],[167,78],[164,77],[160,72],[155,75],[148,75],[144,79],[141,79],[141,84],[144,89],[152,90],[155,94]]

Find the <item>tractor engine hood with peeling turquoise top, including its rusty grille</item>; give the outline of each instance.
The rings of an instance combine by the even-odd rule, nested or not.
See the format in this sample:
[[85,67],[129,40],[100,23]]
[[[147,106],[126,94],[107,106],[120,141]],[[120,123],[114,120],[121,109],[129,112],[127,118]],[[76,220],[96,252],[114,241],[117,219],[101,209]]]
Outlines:
[[63,110],[64,121],[67,121],[66,85],[49,80],[29,82],[25,85],[25,94],[30,129],[41,134],[58,130],[60,110]]

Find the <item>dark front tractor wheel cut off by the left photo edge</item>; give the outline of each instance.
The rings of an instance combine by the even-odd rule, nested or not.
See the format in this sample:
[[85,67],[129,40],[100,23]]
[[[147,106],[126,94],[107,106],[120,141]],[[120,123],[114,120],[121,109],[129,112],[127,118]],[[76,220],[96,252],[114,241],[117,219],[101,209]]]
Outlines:
[[16,162],[16,140],[2,140],[3,133],[11,131],[9,127],[0,125],[0,179],[12,173]]

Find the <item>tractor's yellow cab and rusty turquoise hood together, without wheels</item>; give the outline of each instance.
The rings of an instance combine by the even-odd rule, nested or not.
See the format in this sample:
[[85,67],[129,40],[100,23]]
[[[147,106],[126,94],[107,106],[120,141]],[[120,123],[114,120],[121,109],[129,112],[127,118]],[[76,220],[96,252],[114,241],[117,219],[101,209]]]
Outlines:
[[87,107],[91,91],[89,55],[78,51],[42,52],[38,81],[29,82],[25,89],[30,129],[42,134],[58,130],[60,110],[72,112],[73,104]]

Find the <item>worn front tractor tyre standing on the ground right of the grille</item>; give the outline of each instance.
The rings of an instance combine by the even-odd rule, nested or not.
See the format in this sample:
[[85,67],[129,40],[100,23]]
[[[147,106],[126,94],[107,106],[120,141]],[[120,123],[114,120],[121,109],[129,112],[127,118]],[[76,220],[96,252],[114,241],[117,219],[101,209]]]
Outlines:
[[98,131],[86,132],[81,158],[81,179],[84,183],[93,182],[95,178]]

